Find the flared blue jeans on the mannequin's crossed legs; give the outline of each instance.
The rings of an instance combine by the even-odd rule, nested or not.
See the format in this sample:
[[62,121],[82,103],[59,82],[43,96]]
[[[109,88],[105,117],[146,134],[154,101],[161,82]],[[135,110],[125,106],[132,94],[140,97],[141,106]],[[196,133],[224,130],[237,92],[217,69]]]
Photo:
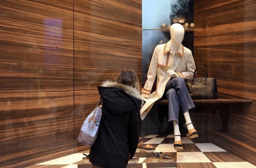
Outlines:
[[180,108],[182,113],[185,113],[189,109],[196,107],[188,93],[185,80],[181,77],[169,80],[166,83],[164,93],[169,100],[168,122],[175,120],[179,123]]

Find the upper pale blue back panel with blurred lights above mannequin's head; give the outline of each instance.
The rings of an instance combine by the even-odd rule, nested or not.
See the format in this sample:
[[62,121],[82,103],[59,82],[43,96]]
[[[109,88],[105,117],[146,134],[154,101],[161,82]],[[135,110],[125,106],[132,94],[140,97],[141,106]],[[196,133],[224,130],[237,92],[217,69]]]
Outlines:
[[173,23],[193,28],[193,10],[193,0],[143,0],[142,30],[170,28]]

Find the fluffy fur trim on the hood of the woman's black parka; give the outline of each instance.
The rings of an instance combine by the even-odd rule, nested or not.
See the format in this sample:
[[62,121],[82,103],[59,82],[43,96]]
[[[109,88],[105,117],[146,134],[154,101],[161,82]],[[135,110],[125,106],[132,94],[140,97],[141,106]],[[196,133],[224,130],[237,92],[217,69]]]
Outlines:
[[127,94],[130,94],[138,99],[141,100],[141,107],[143,106],[144,104],[144,101],[141,97],[141,94],[140,92],[136,89],[136,88],[133,88],[131,86],[128,86],[128,85],[124,85],[124,84],[121,84],[121,83],[117,83],[117,82],[114,82],[114,81],[104,81],[101,86],[103,87],[106,87],[106,88],[119,88],[119,89],[122,89],[125,91],[125,93]]

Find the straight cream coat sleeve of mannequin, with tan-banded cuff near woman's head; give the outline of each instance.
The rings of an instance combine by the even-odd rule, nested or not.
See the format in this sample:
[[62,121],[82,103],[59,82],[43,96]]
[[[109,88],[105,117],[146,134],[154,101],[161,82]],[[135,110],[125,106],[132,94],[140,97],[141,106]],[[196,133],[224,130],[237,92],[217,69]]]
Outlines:
[[141,95],[143,97],[149,97],[151,89],[156,79],[157,68],[158,68],[158,60],[157,60],[158,46],[156,46],[154,53],[152,55],[152,59],[150,61],[150,65],[148,68],[148,80],[146,81],[144,88],[141,89]]

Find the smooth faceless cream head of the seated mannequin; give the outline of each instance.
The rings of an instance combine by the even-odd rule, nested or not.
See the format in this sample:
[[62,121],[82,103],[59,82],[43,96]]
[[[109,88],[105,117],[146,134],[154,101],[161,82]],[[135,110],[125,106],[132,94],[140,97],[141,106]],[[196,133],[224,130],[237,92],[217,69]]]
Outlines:
[[179,46],[184,38],[184,28],[181,24],[175,23],[170,27],[171,46],[173,48]]

